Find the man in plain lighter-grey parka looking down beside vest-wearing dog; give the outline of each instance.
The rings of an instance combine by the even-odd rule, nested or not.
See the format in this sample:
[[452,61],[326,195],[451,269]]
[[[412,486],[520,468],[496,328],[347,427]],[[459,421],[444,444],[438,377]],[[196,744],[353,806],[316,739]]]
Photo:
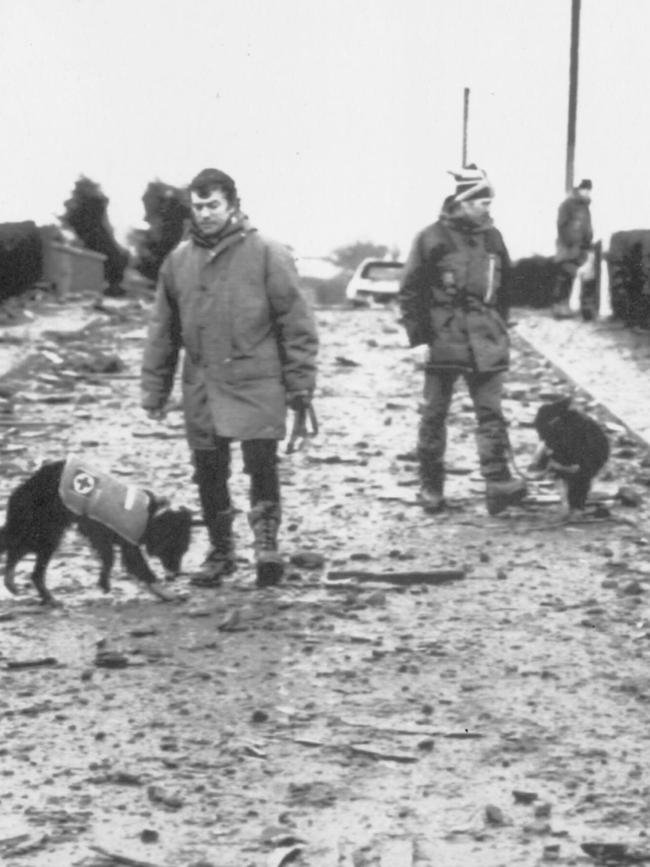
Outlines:
[[317,337],[289,251],[239,210],[233,179],[204,169],[189,186],[189,237],[163,262],[142,365],[142,406],[162,418],[184,348],[183,409],[211,547],[190,580],[219,586],[235,569],[228,490],[230,445],[240,440],[250,476],[257,583],[276,584],[278,440],[286,409],[306,409]]

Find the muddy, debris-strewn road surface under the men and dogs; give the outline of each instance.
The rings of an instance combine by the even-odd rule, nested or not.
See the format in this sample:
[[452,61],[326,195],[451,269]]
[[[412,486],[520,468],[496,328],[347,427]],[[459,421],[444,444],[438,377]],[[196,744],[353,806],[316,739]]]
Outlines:
[[[161,426],[138,408],[146,307],[43,334],[4,380],[0,503],[73,451],[197,509],[179,410]],[[240,562],[223,589],[184,576],[163,604],[118,574],[105,597],[74,532],[49,570],[62,607],[37,604],[27,561],[21,595],[2,588],[2,863],[511,867],[650,852],[646,450],[515,328],[517,463],[534,451],[539,402],[571,391],[608,426],[595,493],[610,518],[558,523],[544,483],[490,518],[461,386],[450,509],[425,515],[421,360],[396,318],[317,312],[321,431],[282,457],[295,561],[282,587],[254,586],[235,450]],[[621,486],[640,503],[617,499]],[[187,571],[205,547],[197,528]],[[439,569],[456,580],[337,579]]]

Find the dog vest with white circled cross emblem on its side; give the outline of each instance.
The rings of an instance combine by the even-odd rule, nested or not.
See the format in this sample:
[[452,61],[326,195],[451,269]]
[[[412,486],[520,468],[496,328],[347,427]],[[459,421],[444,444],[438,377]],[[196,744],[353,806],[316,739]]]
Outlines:
[[75,515],[92,518],[122,539],[139,545],[149,522],[149,494],[70,455],[59,496]]

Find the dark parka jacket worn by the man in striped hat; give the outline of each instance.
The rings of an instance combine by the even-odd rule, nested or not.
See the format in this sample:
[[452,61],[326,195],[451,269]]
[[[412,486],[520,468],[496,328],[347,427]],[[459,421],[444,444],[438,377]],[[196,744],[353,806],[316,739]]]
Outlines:
[[429,346],[429,369],[507,369],[509,271],[508,251],[491,221],[472,226],[441,215],[416,236],[399,296],[411,346]]

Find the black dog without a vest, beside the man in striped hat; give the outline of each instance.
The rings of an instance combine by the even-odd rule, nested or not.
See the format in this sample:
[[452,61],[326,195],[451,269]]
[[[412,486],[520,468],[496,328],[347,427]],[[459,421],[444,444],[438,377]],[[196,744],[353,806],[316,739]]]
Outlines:
[[563,480],[573,511],[584,509],[591,484],[609,458],[609,441],[598,422],[570,404],[566,397],[538,409],[535,430],[543,447],[534,468],[551,470]]

